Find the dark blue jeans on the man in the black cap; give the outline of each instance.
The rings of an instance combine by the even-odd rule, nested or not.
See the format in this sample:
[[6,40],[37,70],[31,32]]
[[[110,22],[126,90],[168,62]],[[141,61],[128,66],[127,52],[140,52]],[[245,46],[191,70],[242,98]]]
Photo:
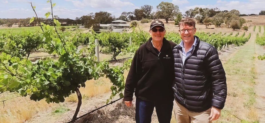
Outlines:
[[173,101],[151,102],[142,99],[136,99],[136,123],[150,123],[154,107],[160,123],[170,123],[173,109]]

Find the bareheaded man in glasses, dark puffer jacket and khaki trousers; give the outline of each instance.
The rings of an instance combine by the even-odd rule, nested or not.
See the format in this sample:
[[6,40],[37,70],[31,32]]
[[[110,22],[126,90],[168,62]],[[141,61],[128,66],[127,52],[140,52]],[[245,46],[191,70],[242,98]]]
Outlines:
[[209,123],[226,101],[226,76],[214,46],[200,41],[195,20],[179,23],[182,41],[174,47],[174,113],[178,123]]

